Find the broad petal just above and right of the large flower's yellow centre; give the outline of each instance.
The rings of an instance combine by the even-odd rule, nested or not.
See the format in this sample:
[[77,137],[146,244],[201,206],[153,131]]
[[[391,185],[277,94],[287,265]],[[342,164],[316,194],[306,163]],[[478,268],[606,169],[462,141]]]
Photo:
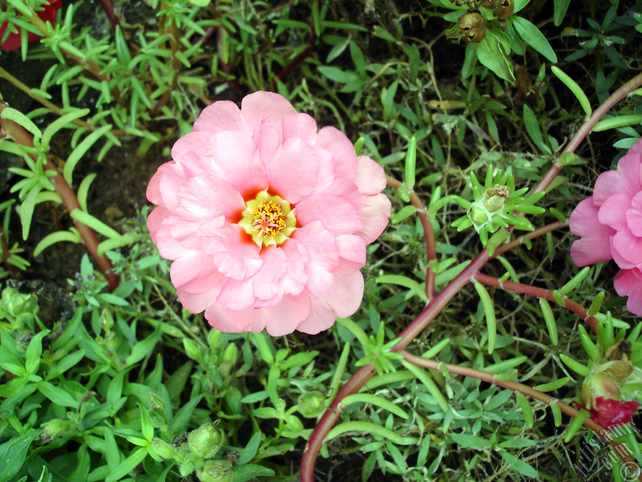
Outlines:
[[318,165],[317,152],[301,139],[291,138],[271,159],[266,159],[265,174],[270,189],[295,204],[312,192]]

